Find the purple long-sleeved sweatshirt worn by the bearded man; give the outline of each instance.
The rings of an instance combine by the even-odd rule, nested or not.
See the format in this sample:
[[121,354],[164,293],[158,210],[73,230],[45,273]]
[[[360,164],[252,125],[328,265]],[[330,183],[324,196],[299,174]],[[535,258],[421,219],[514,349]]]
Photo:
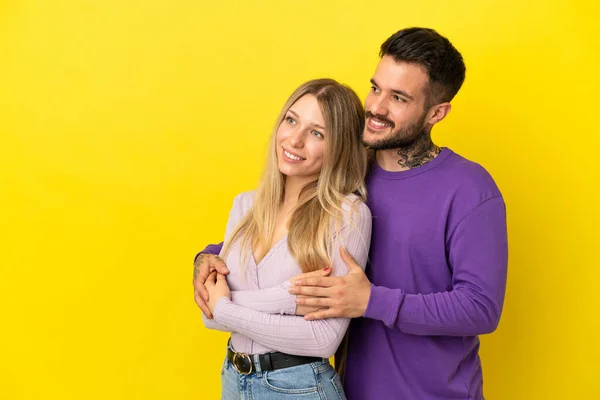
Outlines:
[[368,189],[373,286],[350,324],[346,396],[483,399],[477,335],[496,329],[506,287],[500,191],[449,149],[409,171],[375,165]]

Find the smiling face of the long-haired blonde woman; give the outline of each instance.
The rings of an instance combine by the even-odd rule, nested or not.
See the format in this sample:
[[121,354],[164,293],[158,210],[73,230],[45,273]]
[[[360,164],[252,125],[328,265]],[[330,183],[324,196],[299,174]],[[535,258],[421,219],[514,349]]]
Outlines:
[[286,112],[277,128],[277,164],[287,177],[315,180],[325,156],[325,119],[317,98],[307,94]]

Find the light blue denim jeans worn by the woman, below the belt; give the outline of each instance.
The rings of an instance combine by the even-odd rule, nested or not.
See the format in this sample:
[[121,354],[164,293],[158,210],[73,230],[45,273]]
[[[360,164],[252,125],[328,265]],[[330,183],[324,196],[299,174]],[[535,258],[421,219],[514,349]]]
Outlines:
[[222,400],[346,400],[340,377],[327,359],[249,375],[238,373],[227,358],[221,370]]

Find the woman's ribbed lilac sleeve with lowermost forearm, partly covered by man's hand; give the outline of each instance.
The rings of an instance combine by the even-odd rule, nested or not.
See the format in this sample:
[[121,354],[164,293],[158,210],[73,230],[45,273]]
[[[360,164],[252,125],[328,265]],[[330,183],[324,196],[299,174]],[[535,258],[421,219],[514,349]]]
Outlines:
[[[364,268],[370,238],[371,212],[361,203],[353,222],[342,227],[334,241],[333,274],[348,273],[348,268],[339,255],[340,245]],[[213,314],[215,321],[222,327],[239,332],[274,350],[325,358],[335,353],[350,323],[347,318],[306,321],[301,316],[259,312],[235,304],[227,298],[219,300]]]

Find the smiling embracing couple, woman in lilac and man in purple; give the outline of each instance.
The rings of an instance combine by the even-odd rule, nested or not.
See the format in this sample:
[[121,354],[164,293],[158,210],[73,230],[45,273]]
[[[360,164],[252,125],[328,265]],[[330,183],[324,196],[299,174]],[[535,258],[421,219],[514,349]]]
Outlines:
[[291,95],[260,186],[196,257],[205,325],[231,332],[223,399],[483,398],[478,335],[502,310],[505,205],[481,166],[431,140],[463,59],[425,28],[380,56],[364,111],[331,79]]

